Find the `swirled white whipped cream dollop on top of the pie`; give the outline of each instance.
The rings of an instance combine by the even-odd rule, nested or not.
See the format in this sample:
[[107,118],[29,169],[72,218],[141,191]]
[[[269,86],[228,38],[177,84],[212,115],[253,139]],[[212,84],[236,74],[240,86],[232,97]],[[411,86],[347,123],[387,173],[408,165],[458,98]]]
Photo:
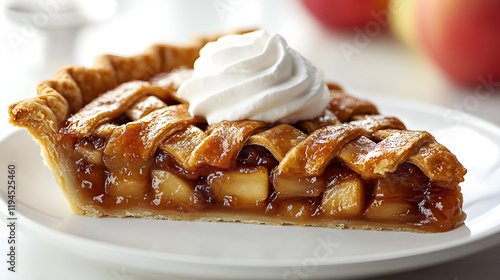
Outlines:
[[206,44],[177,91],[193,116],[295,123],[323,114],[329,91],[320,71],[279,35],[264,30]]

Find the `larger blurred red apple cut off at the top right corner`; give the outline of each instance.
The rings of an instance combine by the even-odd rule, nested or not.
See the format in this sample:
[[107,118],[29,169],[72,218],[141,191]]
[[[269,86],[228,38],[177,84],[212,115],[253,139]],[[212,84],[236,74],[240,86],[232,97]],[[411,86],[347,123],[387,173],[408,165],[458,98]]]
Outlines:
[[500,81],[499,0],[419,0],[416,9],[423,47],[451,79]]

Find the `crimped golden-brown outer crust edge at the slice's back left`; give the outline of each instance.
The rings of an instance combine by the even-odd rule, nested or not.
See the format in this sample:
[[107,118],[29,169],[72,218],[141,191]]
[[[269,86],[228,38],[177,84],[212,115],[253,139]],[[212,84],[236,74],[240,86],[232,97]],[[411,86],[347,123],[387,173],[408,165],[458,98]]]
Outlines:
[[132,57],[99,56],[93,68],[61,68],[52,80],[40,83],[37,96],[9,107],[9,121],[30,128],[35,137],[38,133],[55,133],[70,114],[121,83],[149,79],[181,65],[192,67],[199,49],[155,45]]

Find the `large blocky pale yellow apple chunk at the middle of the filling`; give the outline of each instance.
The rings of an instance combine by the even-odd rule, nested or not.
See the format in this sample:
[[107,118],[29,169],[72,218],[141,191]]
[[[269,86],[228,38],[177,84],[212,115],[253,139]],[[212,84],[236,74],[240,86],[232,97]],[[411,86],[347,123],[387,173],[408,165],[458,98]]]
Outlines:
[[212,173],[210,177],[211,194],[219,204],[257,206],[269,195],[268,170],[263,166],[245,170],[218,171]]

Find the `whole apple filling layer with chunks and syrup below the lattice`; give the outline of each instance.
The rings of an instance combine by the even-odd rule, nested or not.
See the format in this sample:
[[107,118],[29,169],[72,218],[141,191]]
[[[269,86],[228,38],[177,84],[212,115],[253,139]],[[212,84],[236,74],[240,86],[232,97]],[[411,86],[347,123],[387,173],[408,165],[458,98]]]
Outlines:
[[151,212],[234,211],[290,224],[359,220],[424,231],[449,230],[463,215],[460,189],[431,182],[411,163],[374,180],[363,180],[340,160],[320,176],[283,177],[275,173],[278,162],[266,149],[248,145],[229,169],[204,167],[194,172],[160,150],[142,170],[146,175],[134,177],[126,168],[111,174],[89,156],[101,153],[102,142],[84,140],[75,145],[75,155],[88,151],[82,147],[96,145],[96,150],[76,160],[77,180],[81,198],[102,213],[133,207]]

